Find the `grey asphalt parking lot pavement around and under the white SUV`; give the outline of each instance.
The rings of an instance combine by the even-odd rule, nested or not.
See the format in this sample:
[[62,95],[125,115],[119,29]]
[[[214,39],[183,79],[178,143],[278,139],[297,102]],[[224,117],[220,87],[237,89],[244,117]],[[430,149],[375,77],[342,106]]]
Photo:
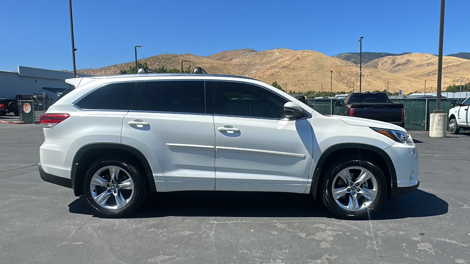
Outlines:
[[39,125],[0,124],[0,263],[470,264],[470,135],[412,135],[421,185],[371,221],[308,195],[226,192],[154,194],[102,219],[39,178]]

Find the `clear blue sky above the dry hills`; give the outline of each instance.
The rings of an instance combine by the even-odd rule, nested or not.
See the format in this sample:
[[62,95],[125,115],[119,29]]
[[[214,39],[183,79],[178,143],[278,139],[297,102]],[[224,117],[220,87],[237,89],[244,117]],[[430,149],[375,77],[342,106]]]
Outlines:
[[[438,53],[440,0],[72,0],[77,69],[252,48]],[[447,0],[444,54],[470,52],[470,0]],[[3,1],[0,70],[72,70],[68,0]]]

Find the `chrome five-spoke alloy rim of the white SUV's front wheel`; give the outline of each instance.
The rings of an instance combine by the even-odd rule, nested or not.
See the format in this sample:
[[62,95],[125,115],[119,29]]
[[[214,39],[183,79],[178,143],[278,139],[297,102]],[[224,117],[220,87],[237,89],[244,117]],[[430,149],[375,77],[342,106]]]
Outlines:
[[376,177],[358,166],[338,172],[331,188],[336,203],[352,212],[367,209],[376,200],[378,192]]

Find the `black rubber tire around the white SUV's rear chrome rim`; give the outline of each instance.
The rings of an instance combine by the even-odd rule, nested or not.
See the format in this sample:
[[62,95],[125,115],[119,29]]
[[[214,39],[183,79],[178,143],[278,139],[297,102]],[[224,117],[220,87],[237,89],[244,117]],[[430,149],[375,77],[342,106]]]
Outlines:
[[[127,172],[129,176],[133,180],[133,197],[131,200],[122,208],[119,209],[107,209],[99,205],[92,196],[91,190],[91,180],[94,174],[99,171],[100,169],[106,166],[117,166]],[[91,210],[94,211],[94,214],[98,217],[106,217],[106,218],[115,218],[115,217],[125,217],[135,210],[137,210],[142,203],[144,202],[145,198],[147,197],[148,193],[148,186],[146,183],[146,179],[144,179],[144,175],[142,174],[138,167],[134,166],[133,164],[125,161],[122,158],[106,158],[98,161],[90,166],[88,171],[86,172],[85,181],[83,185],[83,194],[86,199],[86,204]],[[122,173],[122,172],[121,172]],[[105,176],[106,177],[106,176]],[[119,175],[118,175],[119,177]],[[105,187],[106,188],[106,187]],[[114,191],[116,193],[117,190]],[[103,191],[104,193],[105,191]],[[112,194],[113,192],[111,192]],[[119,193],[118,193],[119,194]],[[110,195],[112,197],[113,195]],[[111,199],[111,198],[110,198]],[[112,197],[112,199],[116,202],[117,199]],[[112,202],[112,200],[110,201]]]

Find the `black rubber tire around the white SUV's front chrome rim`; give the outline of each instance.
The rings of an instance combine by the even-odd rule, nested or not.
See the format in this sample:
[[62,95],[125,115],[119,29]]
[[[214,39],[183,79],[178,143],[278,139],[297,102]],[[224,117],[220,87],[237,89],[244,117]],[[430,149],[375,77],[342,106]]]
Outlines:
[[[345,170],[349,167],[362,167],[370,171],[376,180],[377,184],[377,195],[375,200],[368,205],[367,208],[358,210],[358,211],[350,211],[345,210],[340,205],[338,205],[337,201],[333,198],[332,194],[332,185],[334,184],[333,181],[335,180],[337,174],[340,171]],[[335,214],[337,217],[344,218],[344,219],[368,219],[368,215],[373,215],[379,208],[380,204],[384,200],[387,192],[387,180],[385,179],[384,172],[370,159],[367,157],[358,157],[358,156],[347,156],[341,159],[338,159],[331,163],[329,167],[322,173],[323,181],[322,181],[322,200],[325,206],[328,208],[330,212]],[[351,175],[352,180],[354,181],[357,179],[357,175]],[[358,188],[362,187],[362,185],[358,186]],[[356,187],[354,187],[355,189]],[[364,190],[362,190],[364,191]],[[351,194],[347,194],[350,195]],[[346,198],[346,195],[343,196]],[[349,196],[348,196],[349,197]],[[356,197],[359,200],[366,199],[362,195],[356,194]],[[342,198],[341,198],[342,199]],[[338,199],[339,200],[339,199]],[[359,202],[362,204],[362,202]],[[361,206],[361,205],[360,205]]]

